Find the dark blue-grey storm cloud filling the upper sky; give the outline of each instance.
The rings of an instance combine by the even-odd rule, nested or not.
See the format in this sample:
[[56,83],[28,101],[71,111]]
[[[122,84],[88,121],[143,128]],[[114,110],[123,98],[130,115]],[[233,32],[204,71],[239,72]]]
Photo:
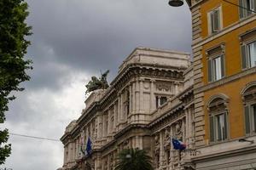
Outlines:
[[[90,72],[110,69],[113,77],[121,61],[137,46],[190,50],[190,15],[186,6],[171,8],[167,2],[155,0],[28,3],[32,43],[40,42],[40,48],[47,46],[54,53],[50,58],[44,56],[47,50],[40,54],[44,57],[32,54],[34,62],[55,61]],[[52,77],[59,76],[55,72],[58,71],[52,71]],[[37,79],[49,75],[40,73],[35,75]],[[52,77],[45,81],[47,85],[54,85]]]

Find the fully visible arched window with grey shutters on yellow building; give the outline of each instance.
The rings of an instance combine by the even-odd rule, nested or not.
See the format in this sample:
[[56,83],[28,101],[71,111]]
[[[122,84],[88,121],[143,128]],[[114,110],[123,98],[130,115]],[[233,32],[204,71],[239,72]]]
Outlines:
[[210,117],[210,142],[228,139],[228,97],[213,96],[207,105]]

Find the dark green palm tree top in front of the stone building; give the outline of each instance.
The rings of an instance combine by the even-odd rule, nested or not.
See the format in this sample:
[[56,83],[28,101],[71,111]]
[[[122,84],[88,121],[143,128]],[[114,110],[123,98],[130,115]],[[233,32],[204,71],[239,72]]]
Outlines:
[[119,152],[114,170],[153,170],[151,157],[145,150],[127,149]]

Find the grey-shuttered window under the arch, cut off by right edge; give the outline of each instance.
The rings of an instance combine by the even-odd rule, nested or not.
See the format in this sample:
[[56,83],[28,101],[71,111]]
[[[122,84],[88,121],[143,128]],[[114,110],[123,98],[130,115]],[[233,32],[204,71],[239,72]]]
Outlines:
[[256,132],[256,104],[245,107],[245,127],[247,134]]

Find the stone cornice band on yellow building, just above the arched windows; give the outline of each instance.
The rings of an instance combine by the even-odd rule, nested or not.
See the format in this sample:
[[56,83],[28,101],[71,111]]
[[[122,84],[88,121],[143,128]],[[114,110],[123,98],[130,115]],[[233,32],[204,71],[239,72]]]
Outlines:
[[253,68],[247,69],[245,71],[241,71],[241,72],[239,72],[235,75],[232,75],[230,77],[224,77],[223,79],[220,79],[217,82],[211,82],[211,83],[208,83],[207,85],[202,86],[200,88],[195,88],[194,93],[199,94],[199,93],[207,91],[211,88],[217,88],[226,83],[236,81],[237,79],[239,79],[241,77],[247,77],[248,75],[255,74],[255,73],[256,73],[256,67],[253,67]]

